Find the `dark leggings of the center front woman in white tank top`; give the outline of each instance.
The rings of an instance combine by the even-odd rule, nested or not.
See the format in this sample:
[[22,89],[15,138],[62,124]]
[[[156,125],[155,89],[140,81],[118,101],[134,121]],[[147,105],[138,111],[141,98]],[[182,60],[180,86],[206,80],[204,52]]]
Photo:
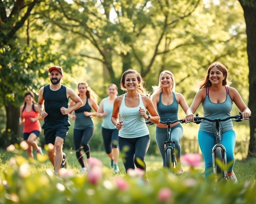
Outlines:
[[[135,169],[134,164],[137,168],[143,169],[146,172],[144,157],[149,148],[149,143],[149,135],[136,138],[118,137],[118,145],[126,172],[129,168]],[[141,162],[138,163],[137,158],[141,160],[143,164],[141,164]]]

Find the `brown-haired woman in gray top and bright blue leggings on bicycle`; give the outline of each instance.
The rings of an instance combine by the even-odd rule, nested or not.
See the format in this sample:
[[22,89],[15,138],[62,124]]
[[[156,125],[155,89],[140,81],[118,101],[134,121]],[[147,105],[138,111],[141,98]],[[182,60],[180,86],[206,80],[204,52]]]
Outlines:
[[[203,106],[203,116],[209,118],[228,117],[231,114],[233,102],[242,112],[242,118],[248,118],[250,109],[243,102],[240,94],[235,88],[227,87],[230,81],[227,79],[227,68],[220,62],[213,62],[206,73],[200,90],[194,97],[193,103],[187,111],[185,121],[193,121],[194,113],[200,103]],[[231,120],[221,122],[221,144],[226,148],[227,164],[232,165],[227,170],[230,180],[237,182],[233,167],[235,163],[234,147],[235,132]],[[210,124],[201,123],[198,132],[198,143],[205,159],[205,178],[213,174],[212,148],[214,143],[214,133]]]

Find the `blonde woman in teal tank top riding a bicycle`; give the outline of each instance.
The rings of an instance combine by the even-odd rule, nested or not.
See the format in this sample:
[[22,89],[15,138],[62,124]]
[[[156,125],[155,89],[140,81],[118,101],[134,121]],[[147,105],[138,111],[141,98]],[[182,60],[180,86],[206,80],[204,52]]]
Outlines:
[[[162,122],[178,120],[178,108],[179,104],[186,113],[189,108],[183,95],[175,92],[175,80],[174,75],[168,70],[162,71],[159,77],[158,86],[153,87],[154,92],[152,94],[152,101],[157,109]],[[171,124],[171,140],[175,142],[175,149],[177,149],[177,162],[180,162],[181,157],[181,145],[179,140],[182,137],[183,128],[179,122]],[[163,166],[165,167],[165,148],[164,141],[167,141],[167,126],[164,124],[157,124],[155,129],[155,140],[159,152],[163,159]],[[182,175],[183,168],[180,165],[180,169],[176,171],[177,175]]]

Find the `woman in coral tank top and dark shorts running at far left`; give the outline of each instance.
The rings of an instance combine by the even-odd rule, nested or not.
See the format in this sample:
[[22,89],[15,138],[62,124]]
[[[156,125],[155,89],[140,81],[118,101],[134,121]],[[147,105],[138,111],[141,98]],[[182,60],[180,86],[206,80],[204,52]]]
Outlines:
[[42,148],[37,145],[35,139],[39,137],[42,129],[39,120],[37,104],[34,101],[34,94],[32,91],[27,91],[24,96],[23,105],[20,108],[19,124],[23,126],[23,139],[28,143],[27,157],[33,158],[33,147],[39,154],[43,154]]

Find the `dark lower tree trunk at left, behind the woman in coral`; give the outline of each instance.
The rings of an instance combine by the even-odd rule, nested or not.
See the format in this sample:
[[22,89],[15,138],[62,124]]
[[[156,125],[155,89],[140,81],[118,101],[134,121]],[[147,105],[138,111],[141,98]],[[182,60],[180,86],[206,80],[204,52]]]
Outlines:
[[6,130],[2,134],[1,147],[6,147],[22,140],[22,126],[19,125],[19,108],[12,104],[5,106],[6,110]]

